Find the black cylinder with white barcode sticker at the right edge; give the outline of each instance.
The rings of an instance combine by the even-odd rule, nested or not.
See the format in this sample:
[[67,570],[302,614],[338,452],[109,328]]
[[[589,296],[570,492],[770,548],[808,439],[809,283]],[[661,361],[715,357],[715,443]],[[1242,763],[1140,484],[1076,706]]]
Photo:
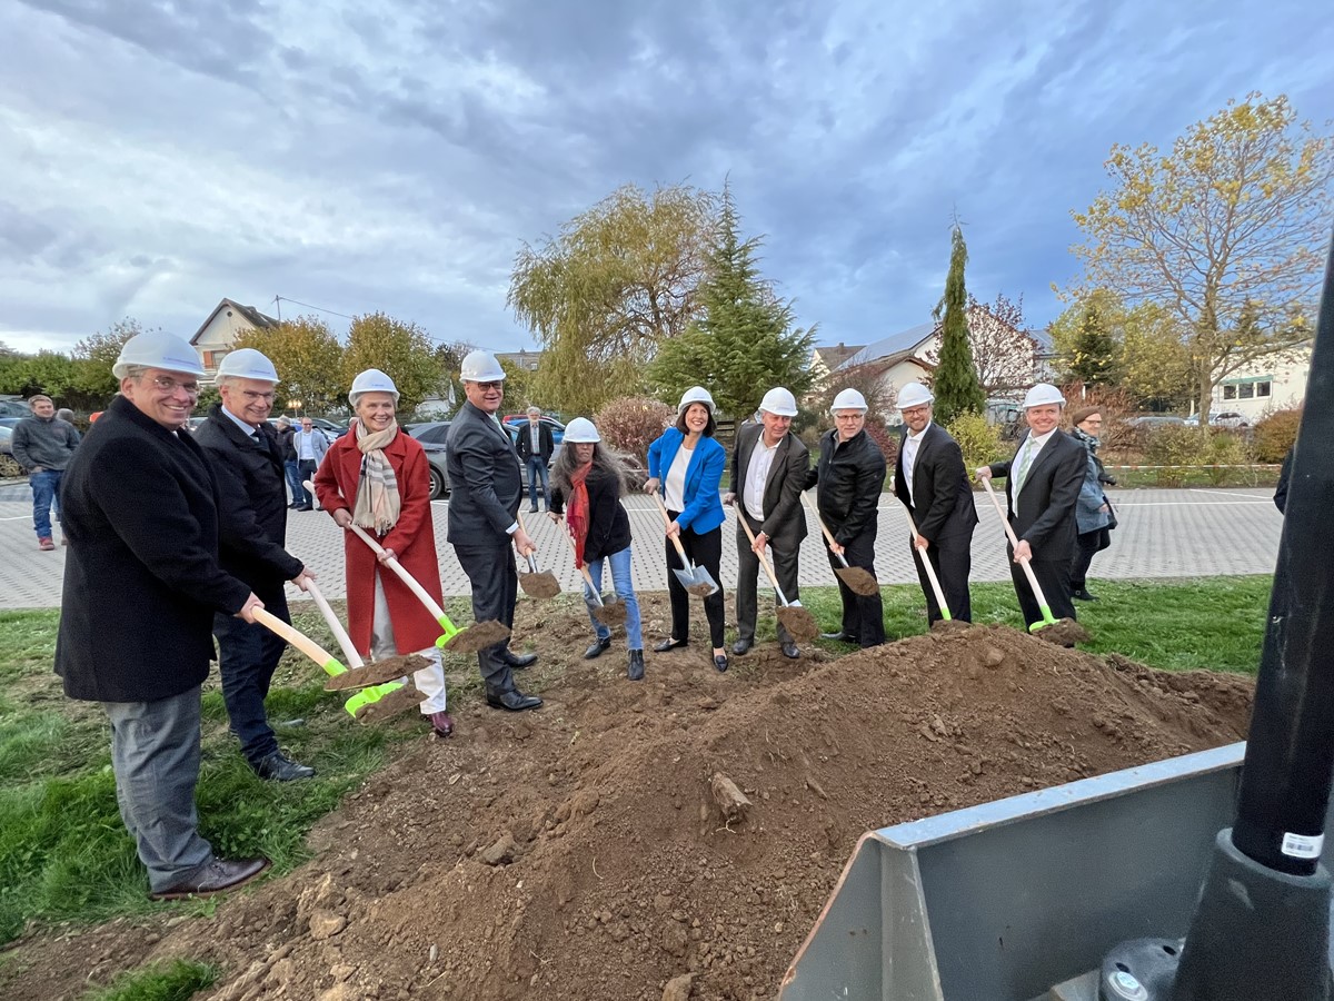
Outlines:
[[1269,623],[1255,683],[1233,844],[1263,866],[1310,876],[1334,775],[1334,247]]

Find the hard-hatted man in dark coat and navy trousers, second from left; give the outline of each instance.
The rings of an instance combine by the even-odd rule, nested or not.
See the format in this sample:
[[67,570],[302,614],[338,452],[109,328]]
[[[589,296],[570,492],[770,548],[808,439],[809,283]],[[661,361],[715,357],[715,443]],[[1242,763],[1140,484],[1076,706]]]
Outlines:
[[[268,423],[277,371],[253,348],[232,351],[217,366],[223,398],[195,431],[195,440],[217,480],[221,566],[249,585],[264,609],[291,622],[283,582],[303,591],[313,577],[283,543],[287,539],[287,492],[277,434]],[[245,761],[260,778],[289,782],[311,778],[315,769],[288,758],[268,725],[264,699],[287,643],[264,626],[235,615],[213,615],[223,701]]]

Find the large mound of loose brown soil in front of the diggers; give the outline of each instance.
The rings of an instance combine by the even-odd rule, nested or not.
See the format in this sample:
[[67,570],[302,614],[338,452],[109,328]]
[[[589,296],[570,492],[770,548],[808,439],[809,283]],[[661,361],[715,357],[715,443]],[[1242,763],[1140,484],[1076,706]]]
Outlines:
[[[666,602],[644,599],[651,645]],[[1246,678],[1000,626],[795,662],[766,642],[718,674],[696,625],[638,685],[619,641],[579,659],[568,606],[523,601],[515,633],[542,654],[540,711],[471,698],[451,739],[319,825],[316,861],[213,920],[39,933],[5,997],[171,956],[220,962],[216,1001],[659,1001],[680,974],[674,996],[774,997],[862,831],[1241,739],[1251,701]],[[723,815],[719,773],[743,813]]]

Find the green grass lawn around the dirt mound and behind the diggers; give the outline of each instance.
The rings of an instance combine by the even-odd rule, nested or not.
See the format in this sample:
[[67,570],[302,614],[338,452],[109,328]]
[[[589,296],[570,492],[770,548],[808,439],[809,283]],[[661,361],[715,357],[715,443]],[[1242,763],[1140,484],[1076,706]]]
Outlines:
[[[1254,673],[1259,663],[1269,577],[1095,579],[1090,587],[1101,601],[1081,605],[1079,617],[1093,634],[1085,645],[1091,653],[1115,651],[1167,670]],[[916,586],[886,587],[883,597],[891,638],[926,631]],[[835,589],[804,589],[802,599],[823,629],[836,629]],[[467,618],[466,599],[450,606]],[[1009,583],[974,585],[972,609],[975,622],[1021,626]],[[116,807],[105,717],[95,705],[67,699],[51,670],[56,622],[51,610],[0,611],[0,944],[29,921],[100,922],[161,908],[211,913],[207,901],[148,901]],[[336,649],[313,610],[297,613],[296,625]],[[772,630],[772,619],[762,617],[760,629]],[[458,677],[451,670],[450,679],[455,698],[479,697],[475,670]],[[264,853],[283,873],[304,861],[311,825],[380,769],[396,743],[420,739],[424,725],[415,711],[379,726],[350,725],[342,701],[323,693],[321,675],[293,651],[279,669],[268,709],[283,746],[315,762],[319,775],[287,785],[255,778],[227,731],[215,673],[204,694],[197,799],[201,831],[220,854]],[[163,976],[187,982],[205,973]]]

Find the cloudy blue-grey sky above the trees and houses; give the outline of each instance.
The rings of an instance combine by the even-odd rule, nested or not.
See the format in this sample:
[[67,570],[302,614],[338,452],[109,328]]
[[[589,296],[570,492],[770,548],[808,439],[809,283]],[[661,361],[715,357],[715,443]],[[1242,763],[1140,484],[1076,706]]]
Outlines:
[[928,319],[954,212],[968,290],[1045,326],[1111,144],[1253,89],[1334,117],[1331,24],[1313,0],[4,0],[0,340],[189,336],[280,295],[531,348],[522,242],[620,184],[727,175],[822,343]]

